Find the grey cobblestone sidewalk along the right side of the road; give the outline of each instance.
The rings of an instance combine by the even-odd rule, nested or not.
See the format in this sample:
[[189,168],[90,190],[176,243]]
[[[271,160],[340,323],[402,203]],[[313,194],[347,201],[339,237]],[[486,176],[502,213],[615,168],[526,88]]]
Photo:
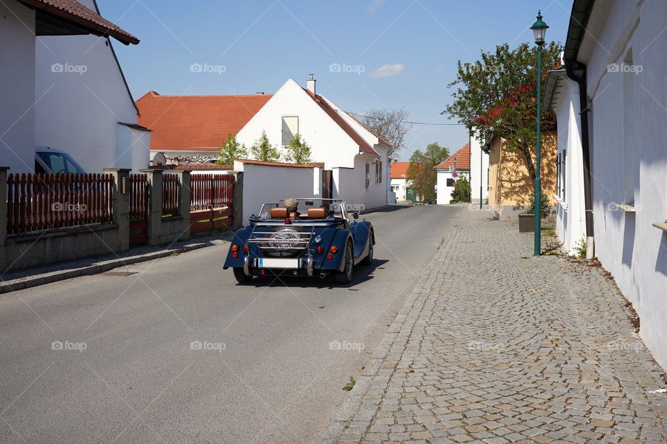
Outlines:
[[531,252],[463,212],[322,443],[666,443],[663,370],[614,284]]

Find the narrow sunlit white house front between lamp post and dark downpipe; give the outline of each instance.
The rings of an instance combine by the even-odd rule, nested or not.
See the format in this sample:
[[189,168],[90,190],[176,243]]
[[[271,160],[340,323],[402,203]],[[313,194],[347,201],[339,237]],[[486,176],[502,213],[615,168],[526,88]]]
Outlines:
[[[570,255],[586,238],[582,135],[579,128],[579,86],[565,69],[549,71],[543,108],[556,114],[556,232]],[[592,252],[591,252],[592,253]]]

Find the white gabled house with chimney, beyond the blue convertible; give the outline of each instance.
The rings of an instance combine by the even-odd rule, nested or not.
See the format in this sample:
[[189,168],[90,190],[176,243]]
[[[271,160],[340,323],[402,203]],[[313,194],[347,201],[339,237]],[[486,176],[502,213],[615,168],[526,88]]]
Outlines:
[[306,88],[289,79],[241,128],[238,142],[252,145],[266,132],[279,147],[299,133],[309,146],[313,162],[331,171],[333,198],[370,210],[388,203],[389,144],[315,89],[315,79]]

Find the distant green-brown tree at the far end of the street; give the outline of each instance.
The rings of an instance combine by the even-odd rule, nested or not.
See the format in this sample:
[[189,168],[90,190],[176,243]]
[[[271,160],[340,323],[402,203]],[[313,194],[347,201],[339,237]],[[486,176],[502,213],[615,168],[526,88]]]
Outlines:
[[437,173],[434,168],[440,162],[447,160],[447,157],[450,157],[450,151],[437,142],[429,144],[423,152],[417,150],[412,153],[405,178],[420,200],[425,202],[436,200],[434,189]]

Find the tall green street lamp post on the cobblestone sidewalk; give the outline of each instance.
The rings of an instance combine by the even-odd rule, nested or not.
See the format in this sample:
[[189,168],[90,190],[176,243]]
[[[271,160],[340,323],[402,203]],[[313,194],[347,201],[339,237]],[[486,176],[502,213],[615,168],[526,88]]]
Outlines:
[[539,256],[542,252],[542,178],[540,177],[540,157],[542,151],[542,46],[545,43],[547,24],[542,21],[542,12],[537,12],[537,21],[530,27],[535,36],[537,45],[537,146],[535,154],[535,252]]

